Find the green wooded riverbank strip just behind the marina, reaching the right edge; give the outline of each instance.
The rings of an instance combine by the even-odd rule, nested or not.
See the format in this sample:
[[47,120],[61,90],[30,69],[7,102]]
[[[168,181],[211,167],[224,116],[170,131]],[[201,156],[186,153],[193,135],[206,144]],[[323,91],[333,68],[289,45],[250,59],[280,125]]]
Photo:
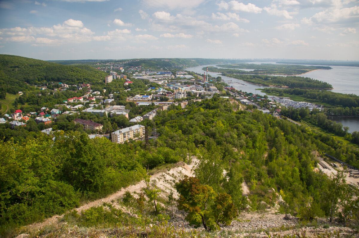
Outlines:
[[[308,99],[309,102],[327,103],[334,107],[359,107],[359,96],[355,94],[335,93],[327,90],[317,89],[279,89],[264,88],[262,92],[272,95],[298,95]],[[349,115],[347,115],[349,116]]]

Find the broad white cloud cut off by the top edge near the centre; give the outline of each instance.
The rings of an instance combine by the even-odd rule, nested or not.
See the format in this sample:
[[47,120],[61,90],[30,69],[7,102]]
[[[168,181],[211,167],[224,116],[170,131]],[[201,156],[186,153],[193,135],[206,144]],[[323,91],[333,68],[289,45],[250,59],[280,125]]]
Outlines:
[[169,8],[173,9],[192,9],[195,8],[205,0],[141,0],[142,3],[151,8]]

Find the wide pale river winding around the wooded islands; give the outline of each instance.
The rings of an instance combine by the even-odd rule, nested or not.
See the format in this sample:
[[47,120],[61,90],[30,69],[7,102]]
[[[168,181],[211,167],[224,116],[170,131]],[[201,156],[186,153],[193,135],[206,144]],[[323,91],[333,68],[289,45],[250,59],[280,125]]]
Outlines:
[[[250,63],[275,64],[275,62],[250,62]],[[202,70],[202,68],[206,66],[216,66],[216,65],[201,65],[201,66],[186,68],[185,70],[193,71],[197,74],[203,75],[204,70]],[[330,67],[332,67],[332,69],[330,70],[315,70],[303,74],[301,76],[330,83],[333,86],[333,89],[331,90],[332,92],[359,95],[359,67],[349,67],[349,66],[330,66]],[[220,75],[220,73],[209,72],[208,74],[210,74],[212,77],[221,76],[224,81],[232,80],[232,82],[228,84],[237,90],[242,90],[243,92],[247,92],[247,93],[265,95],[265,93],[260,92],[260,90],[256,90],[258,88],[267,88],[265,86],[250,84],[246,81],[222,76]],[[359,117],[350,117],[350,118],[342,117],[342,118],[330,118],[330,119],[342,123],[343,126],[348,126],[350,128],[349,129],[350,132],[359,131]]]

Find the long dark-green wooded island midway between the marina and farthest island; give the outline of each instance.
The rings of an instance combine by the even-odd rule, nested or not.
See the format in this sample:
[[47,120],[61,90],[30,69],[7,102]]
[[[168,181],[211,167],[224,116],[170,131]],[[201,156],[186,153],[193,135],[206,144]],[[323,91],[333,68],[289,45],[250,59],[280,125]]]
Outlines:
[[317,88],[331,89],[333,86],[326,82],[300,76],[273,76],[273,75],[249,75],[249,74],[222,74],[234,79],[240,79],[252,84],[289,88]]

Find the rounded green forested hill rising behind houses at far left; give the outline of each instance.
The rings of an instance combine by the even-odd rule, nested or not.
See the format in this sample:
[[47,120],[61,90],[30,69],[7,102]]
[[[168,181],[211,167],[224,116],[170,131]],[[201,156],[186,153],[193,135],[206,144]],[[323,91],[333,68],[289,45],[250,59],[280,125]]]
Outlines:
[[0,91],[17,93],[30,85],[50,82],[92,83],[104,79],[105,72],[89,65],[70,66],[14,55],[0,55]]

